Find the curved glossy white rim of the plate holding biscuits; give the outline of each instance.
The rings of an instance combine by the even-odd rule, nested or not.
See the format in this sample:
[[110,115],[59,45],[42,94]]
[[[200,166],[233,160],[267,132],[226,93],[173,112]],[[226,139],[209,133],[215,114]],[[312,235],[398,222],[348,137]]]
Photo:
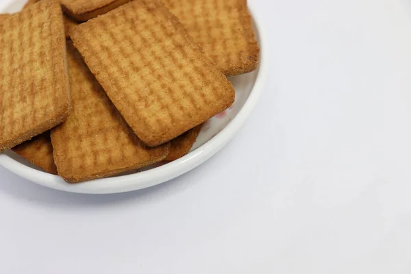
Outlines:
[[[34,182],[40,186],[53,188],[55,190],[62,190],[65,192],[83,193],[83,194],[112,194],[130,192],[149,188],[167,182],[175,177],[183,175],[188,171],[195,169],[197,166],[206,162],[215,153],[220,151],[227,142],[234,138],[238,129],[242,126],[255,107],[266,76],[268,75],[268,45],[266,41],[266,34],[262,27],[262,19],[256,16],[253,10],[253,5],[249,3],[249,10],[256,26],[256,32],[260,41],[260,63],[258,65],[258,73],[256,75],[256,82],[251,89],[249,97],[245,101],[240,111],[234,116],[234,119],[229,124],[216,134],[214,138],[201,145],[199,148],[191,151],[184,157],[164,164],[155,169],[134,173],[131,175],[123,175],[119,177],[108,177],[97,179],[82,184],[68,184],[58,175],[52,175],[45,171],[38,171],[29,166],[25,166],[20,162],[10,158],[10,156],[0,153],[0,166],[11,171],[12,173],[27,179],[29,182]],[[136,182],[137,181],[137,182]],[[140,181],[140,182],[138,182]]]

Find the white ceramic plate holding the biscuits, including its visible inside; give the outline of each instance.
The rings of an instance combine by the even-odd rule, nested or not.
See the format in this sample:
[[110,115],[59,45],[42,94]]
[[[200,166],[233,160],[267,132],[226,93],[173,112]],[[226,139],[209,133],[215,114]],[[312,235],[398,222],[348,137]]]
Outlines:
[[[2,13],[17,12],[21,10],[25,2],[26,0],[16,0],[5,8]],[[258,22],[258,16],[253,13],[252,5],[249,8],[254,18],[254,27],[261,47],[260,66],[253,73],[229,78],[236,90],[234,105],[229,110],[214,116],[206,122],[197,138],[197,142],[195,142],[188,155],[162,166],[149,166],[149,168],[140,169],[134,173],[127,173],[127,175],[117,175],[80,184],[67,184],[61,177],[41,171],[12,151],[0,153],[0,165],[31,182],[48,188],[90,194],[127,192],[155,186],[199,166],[233,138],[254,105],[256,105],[262,90],[267,70],[265,61],[267,60],[268,46],[266,40],[264,40],[264,33],[262,32],[262,25]]]

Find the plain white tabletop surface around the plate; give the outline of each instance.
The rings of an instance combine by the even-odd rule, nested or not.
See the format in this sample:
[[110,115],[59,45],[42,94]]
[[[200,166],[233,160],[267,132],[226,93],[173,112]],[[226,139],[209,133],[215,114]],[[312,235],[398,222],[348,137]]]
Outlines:
[[0,273],[410,273],[411,0],[249,2],[271,72],[238,136],[123,195],[0,168]]

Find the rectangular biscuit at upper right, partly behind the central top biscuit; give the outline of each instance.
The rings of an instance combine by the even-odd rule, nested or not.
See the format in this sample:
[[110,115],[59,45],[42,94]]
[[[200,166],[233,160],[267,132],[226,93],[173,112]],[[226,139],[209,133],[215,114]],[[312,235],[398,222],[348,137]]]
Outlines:
[[163,0],[227,76],[254,71],[260,49],[247,0]]

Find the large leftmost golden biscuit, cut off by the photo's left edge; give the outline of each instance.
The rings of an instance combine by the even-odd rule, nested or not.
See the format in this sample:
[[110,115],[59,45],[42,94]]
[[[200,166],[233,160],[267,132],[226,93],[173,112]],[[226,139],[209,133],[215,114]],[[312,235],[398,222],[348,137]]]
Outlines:
[[42,0],[0,24],[0,152],[46,132],[69,114],[62,18],[58,3]]

